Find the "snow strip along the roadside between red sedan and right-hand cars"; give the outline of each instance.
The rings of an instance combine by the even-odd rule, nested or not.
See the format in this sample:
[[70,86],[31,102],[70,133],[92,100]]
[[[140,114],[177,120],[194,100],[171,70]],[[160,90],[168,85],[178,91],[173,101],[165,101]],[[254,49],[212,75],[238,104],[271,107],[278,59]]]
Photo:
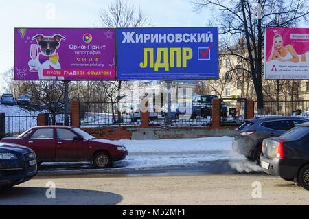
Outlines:
[[[170,168],[203,165],[205,161],[228,160],[239,172],[260,171],[255,163],[231,149],[232,137],[204,137],[196,139],[119,140],[128,150],[128,156],[115,161],[111,170],[141,170],[148,168]],[[71,163],[76,165],[76,163]],[[89,163],[80,163],[92,169]],[[66,163],[69,165],[69,163]],[[42,166],[65,170],[60,163],[43,163]],[[87,170],[83,170],[87,171]],[[101,171],[101,170],[100,170]],[[108,170],[107,170],[108,171]]]

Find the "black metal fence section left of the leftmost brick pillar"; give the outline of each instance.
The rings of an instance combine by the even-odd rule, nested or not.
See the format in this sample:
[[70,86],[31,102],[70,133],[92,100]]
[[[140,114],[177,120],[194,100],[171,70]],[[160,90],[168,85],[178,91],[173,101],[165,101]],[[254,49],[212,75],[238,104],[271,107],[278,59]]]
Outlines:
[[37,116],[0,113],[0,137],[15,137],[37,125]]

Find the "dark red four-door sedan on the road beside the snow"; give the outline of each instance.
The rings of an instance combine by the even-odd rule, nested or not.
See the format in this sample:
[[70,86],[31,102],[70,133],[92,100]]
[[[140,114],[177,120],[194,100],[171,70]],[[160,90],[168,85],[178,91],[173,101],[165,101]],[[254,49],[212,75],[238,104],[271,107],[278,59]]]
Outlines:
[[96,139],[72,126],[36,126],[18,137],[5,137],[1,142],[17,143],[32,148],[38,164],[42,162],[93,161],[97,168],[111,167],[128,151],[119,143]]

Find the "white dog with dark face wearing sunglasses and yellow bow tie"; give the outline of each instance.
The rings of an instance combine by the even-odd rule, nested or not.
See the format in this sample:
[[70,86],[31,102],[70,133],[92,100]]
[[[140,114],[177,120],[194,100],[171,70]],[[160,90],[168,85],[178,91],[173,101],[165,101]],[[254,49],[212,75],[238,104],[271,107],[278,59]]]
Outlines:
[[[34,39],[36,39],[40,51],[34,60],[28,62],[29,67],[34,67],[38,70],[38,78],[41,80],[56,79],[56,76],[43,76],[43,69],[61,69],[56,49],[59,48],[60,41],[62,39],[65,40],[65,37],[60,34],[54,34],[54,36],[36,34],[32,40]],[[63,77],[58,77],[58,79],[64,80]]]

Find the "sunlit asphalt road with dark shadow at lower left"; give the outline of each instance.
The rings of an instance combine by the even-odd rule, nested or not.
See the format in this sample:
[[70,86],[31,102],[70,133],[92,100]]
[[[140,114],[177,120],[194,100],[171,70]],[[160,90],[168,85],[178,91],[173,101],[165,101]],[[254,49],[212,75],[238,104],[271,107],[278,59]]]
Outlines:
[[[240,163],[248,165],[248,163]],[[234,167],[234,168],[233,168]],[[41,170],[0,190],[0,205],[308,205],[308,191],[229,161],[144,170]],[[237,168],[240,170],[239,168]],[[87,169],[86,169],[87,170]],[[49,172],[50,171],[50,172]],[[246,172],[247,171],[247,172]]]

